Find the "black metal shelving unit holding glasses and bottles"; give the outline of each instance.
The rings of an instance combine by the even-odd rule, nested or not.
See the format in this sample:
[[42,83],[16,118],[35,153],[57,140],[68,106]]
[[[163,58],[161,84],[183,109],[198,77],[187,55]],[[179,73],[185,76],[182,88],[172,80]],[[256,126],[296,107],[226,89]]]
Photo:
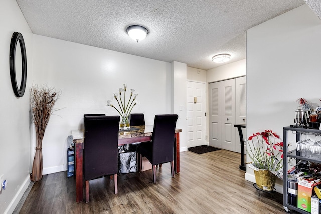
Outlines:
[[294,127],[283,127],[283,207],[286,212],[290,212],[290,210],[294,210],[300,213],[310,213],[305,210],[299,209],[296,206],[293,206],[291,204],[288,204],[288,197],[287,197],[287,159],[288,157],[295,158],[296,160],[307,160],[314,163],[321,163],[321,159],[318,159],[320,155],[312,154],[311,151],[306,152],[299,152],[296,151],[296,149],[292,151],[287,151],[287,134],[288,131],[294,132],[293,134],[296,135],[296,141],[300,140],[300,134],[301,133],[315,133],[315,134],[321,134],[321,130],[318,129],[307,129],[307,128],[294,128]]

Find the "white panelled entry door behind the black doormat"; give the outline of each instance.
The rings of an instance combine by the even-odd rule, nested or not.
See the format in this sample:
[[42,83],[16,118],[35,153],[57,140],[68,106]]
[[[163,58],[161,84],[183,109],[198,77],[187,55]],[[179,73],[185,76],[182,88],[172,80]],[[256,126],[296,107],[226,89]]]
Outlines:
[[205,145],[205,83],[187,81],[187,147]]

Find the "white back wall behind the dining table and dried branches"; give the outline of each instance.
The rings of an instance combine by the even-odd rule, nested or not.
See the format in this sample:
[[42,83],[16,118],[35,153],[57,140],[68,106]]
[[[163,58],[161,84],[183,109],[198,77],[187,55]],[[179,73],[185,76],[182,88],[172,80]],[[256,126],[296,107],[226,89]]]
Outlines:
[[[67,169],[67,136],[83,128],[84,114],[118,115],[106,104],[108,99],[116,104],[113,93],[123,83],[138,94],[140,105],[132,113],[144,113],[146,124],[153,124],[156,114],[171,113],[171,63],[39,35],[34,35],[33,43],[34,84],[62,91],[56,105],[61,110],[51,116],[43,139],[44,174]],[[178,78],[186,82],[184,66],[185,76]],[[180,116],[178,127],[184,123]]]

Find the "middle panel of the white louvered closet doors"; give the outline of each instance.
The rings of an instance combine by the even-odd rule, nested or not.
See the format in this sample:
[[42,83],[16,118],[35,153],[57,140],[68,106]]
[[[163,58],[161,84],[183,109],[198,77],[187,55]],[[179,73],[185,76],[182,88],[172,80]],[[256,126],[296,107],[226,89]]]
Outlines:
[[222,84],[222,149],[235,151],[235,79]]

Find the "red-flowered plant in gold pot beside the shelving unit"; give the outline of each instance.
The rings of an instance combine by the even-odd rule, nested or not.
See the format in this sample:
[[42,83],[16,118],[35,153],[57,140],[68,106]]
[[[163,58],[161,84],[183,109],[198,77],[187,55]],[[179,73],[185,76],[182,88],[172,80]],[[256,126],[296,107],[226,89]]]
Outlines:
[[283,142],[275,132],[265,130],[250,136],[248,145],[257,187],[272,191],[276,178],[283,179]]

